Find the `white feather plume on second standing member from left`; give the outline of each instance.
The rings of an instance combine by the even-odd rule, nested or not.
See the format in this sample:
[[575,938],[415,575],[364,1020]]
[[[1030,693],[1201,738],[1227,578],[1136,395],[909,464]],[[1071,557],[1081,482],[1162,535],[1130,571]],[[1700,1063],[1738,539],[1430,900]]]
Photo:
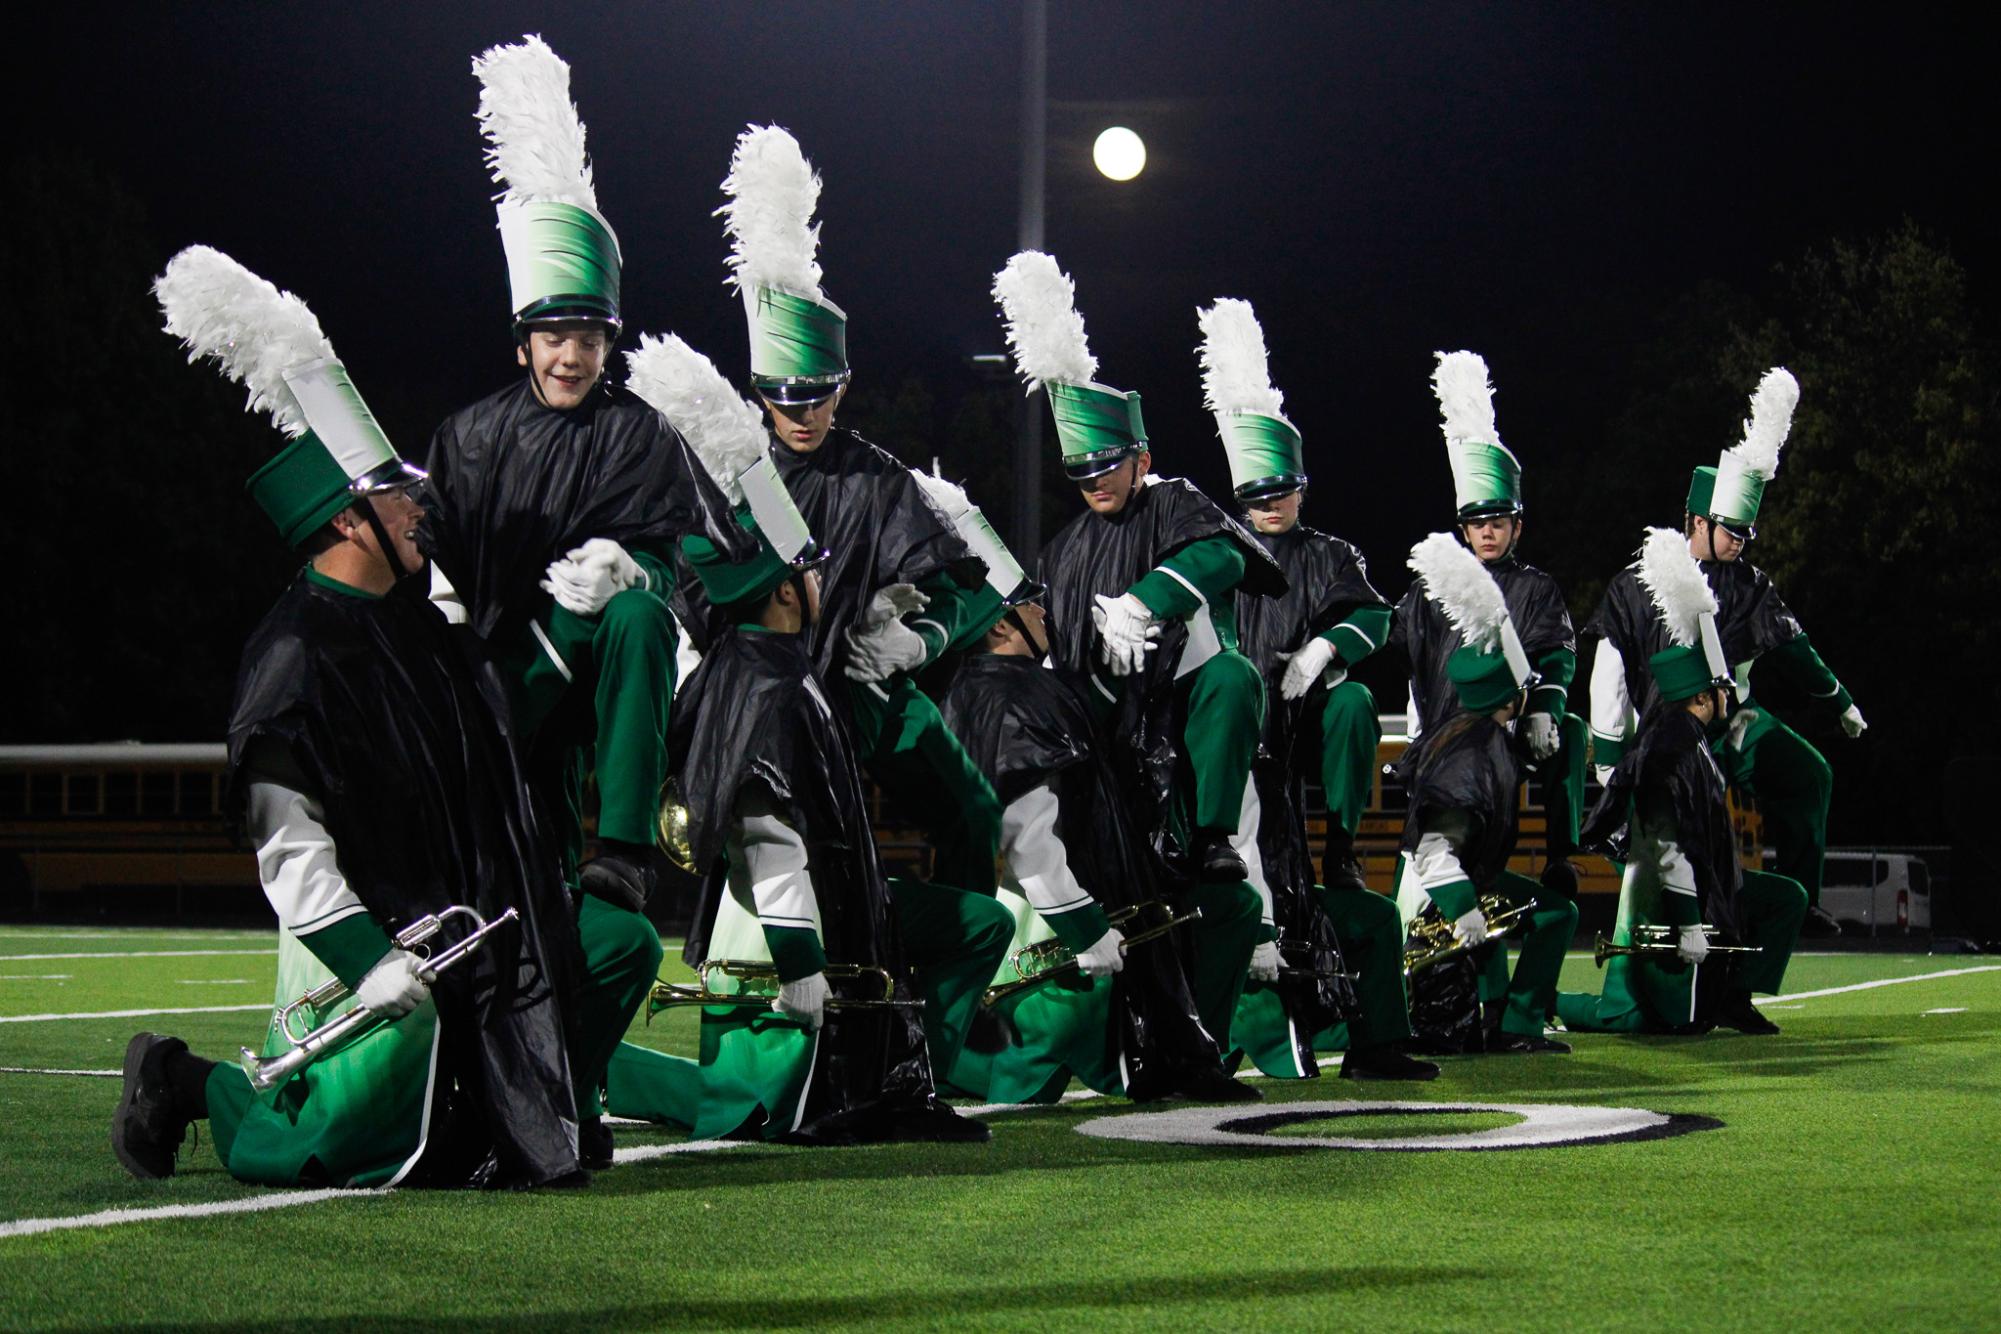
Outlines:
[[730,284],[742,290],[776,288],[820,300],[820,228],[812,210],[820,178],[798,140],[778,126],[750,126],[736,136],[730,174],[722,178],[728,202],[716,210],[730,234]]

